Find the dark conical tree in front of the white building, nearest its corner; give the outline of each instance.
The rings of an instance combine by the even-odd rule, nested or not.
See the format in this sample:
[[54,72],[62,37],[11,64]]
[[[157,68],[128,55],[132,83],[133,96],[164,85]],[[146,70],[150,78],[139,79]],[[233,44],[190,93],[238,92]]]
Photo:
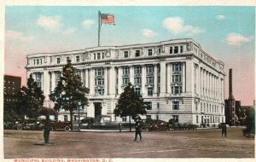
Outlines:
[[129,83],[125,87],[124,92],[119,96],[118,104],[113,110],[113,113],[115,116],[120,116],[121,118],[129,116],[131,131],[131,116],[134,118],[137,114],[146,114],[146,107],[142,95],[137,95],[133,86]]

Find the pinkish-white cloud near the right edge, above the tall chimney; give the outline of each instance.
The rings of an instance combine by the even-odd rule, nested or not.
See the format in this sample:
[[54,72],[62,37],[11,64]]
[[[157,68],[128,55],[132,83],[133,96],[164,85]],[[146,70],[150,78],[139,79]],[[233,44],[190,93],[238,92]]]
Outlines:
[[242,36],[241,34],[237,34],[237,33],[230,33],[227,35],[225,41],[226,43],[228,43],[229,45],[241,45],[241,43],[247,43],[253,40],[253,37],[245,37]]

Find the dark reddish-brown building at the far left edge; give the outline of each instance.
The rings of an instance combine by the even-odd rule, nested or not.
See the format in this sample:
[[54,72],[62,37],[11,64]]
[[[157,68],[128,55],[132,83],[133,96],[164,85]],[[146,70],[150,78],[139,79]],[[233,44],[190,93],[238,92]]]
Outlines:
[[20,86],[21,86],[20,77],[4,75],[4,84],[3,84],[4,103],[11,103],[13,101],[17,101],[17,98],[15,96],[20,91]]

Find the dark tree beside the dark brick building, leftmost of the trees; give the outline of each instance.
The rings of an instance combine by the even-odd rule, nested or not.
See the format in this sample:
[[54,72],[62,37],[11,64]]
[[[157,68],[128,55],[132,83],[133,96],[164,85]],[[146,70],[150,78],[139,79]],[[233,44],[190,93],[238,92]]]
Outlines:
[[27,79],[26,85],[21,87],[19,93],[20,109],[17,111],[18,114],[26,115],[28,118],[37,118],[37,111],[43,107],[45,97],[41,88],[32,78],[32,74]]

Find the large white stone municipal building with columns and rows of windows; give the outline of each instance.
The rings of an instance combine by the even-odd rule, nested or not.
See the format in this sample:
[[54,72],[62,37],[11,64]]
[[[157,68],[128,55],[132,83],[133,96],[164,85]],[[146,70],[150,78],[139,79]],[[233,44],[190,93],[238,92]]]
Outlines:
[[[131,82],[150,106],[143,118],[210,126],[225,120],[224,63],[193,39],[27,55],[27,76],[32,74],[44,91],[46,107],[53,107],[49,94],[68,60],[90,89],[81,119],[108,116],[112,122],[128,121],[115,118],[113,110]],[[68,114],[61,110],[59,120],[69,120]]]

